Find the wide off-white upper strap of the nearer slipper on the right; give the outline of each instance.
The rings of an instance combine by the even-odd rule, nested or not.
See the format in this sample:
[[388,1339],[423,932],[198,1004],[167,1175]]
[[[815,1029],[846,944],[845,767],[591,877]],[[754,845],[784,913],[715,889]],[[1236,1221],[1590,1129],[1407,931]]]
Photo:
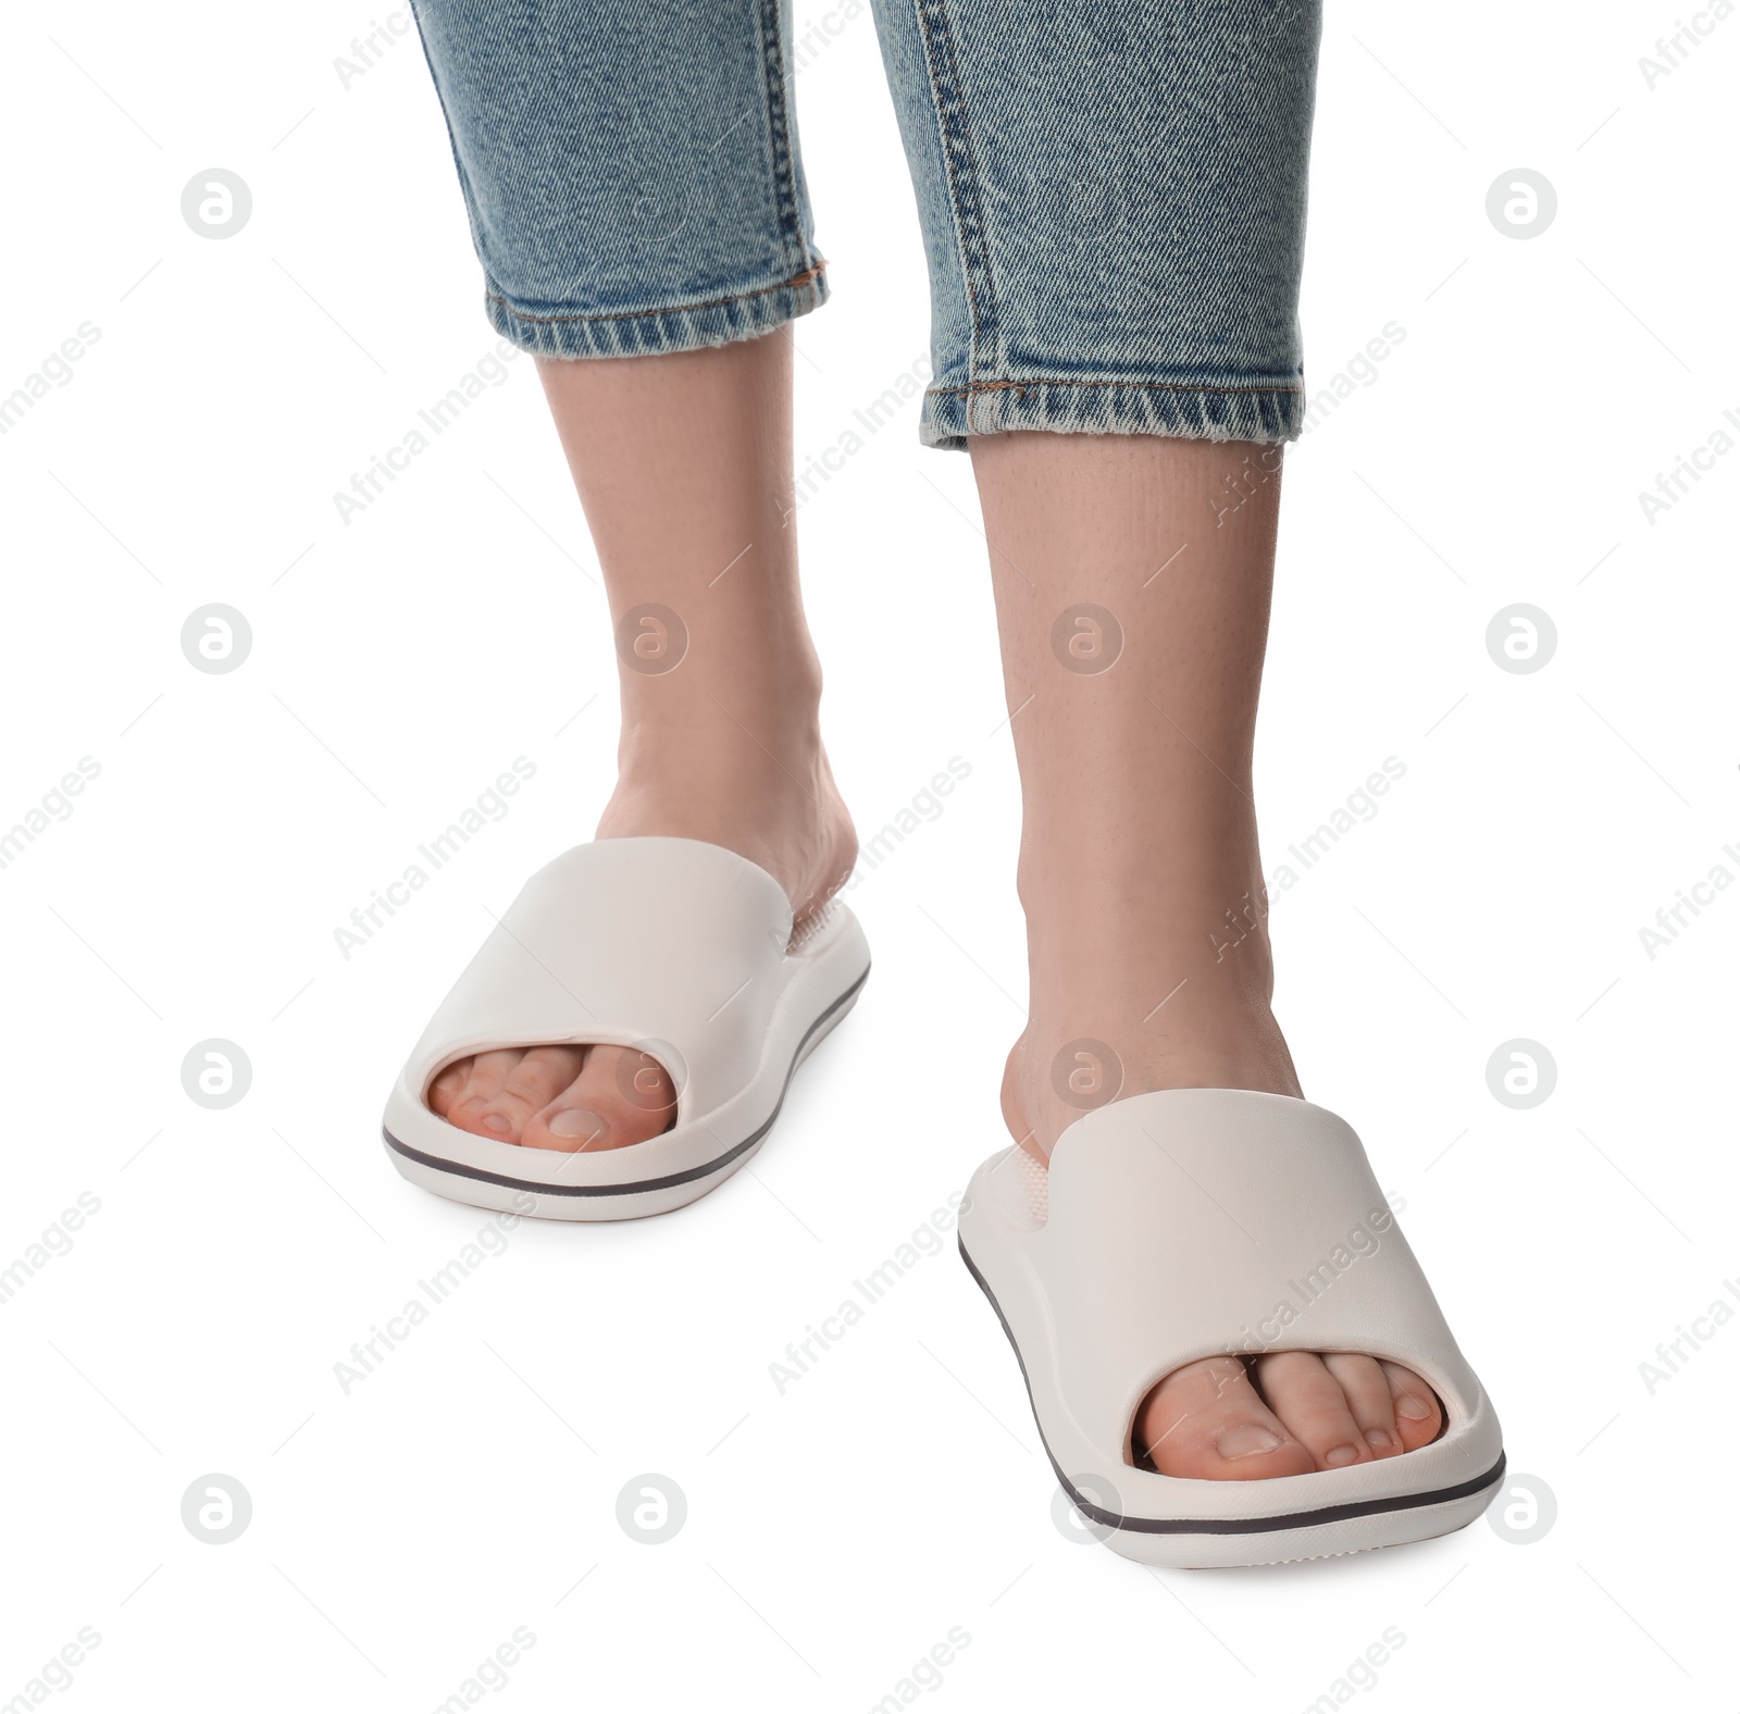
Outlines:
[[1481,1397],[1352,1126],[1310,1101],[1164,1089],[1088,1114],[1034,1242],[1063,1396],[1108,1456],[1155,1382],[1223,1352],[1389,1357],[1453,1420]]

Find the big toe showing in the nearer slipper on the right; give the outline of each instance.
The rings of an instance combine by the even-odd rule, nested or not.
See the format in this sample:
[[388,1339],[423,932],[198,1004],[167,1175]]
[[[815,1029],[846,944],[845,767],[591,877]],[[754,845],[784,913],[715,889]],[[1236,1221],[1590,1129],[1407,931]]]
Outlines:
[[1162,1476],[1260,1481],[1315,1469],[1239,1357],[1204,1357],[1168,1375],[1136,1411],[1134,1450]]

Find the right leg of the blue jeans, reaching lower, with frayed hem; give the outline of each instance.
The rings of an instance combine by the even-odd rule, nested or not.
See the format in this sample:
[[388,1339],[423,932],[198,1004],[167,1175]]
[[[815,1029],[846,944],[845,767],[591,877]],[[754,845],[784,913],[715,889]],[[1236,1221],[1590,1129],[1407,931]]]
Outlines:
[[873,5],[929,252],[922,439],[1295,439],[1317,0]]

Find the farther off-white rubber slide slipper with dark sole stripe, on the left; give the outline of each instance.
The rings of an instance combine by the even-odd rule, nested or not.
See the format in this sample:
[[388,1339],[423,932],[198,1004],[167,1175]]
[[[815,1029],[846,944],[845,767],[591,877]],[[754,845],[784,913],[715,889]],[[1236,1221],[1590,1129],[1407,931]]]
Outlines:
[[[458,1202],[546,1220],[693,1202],[755,1154],[792,1074],[870,974],[863,929],[839,900],[790,940],[785,889],[734,851],[696,839],[576,846],[525,882],[412,1049],[386,1103],[393,1164]],[[430,1084],[454,1060],[548,1042],[651,1053],[677,1088],[675,1126],[562,1154],[475,1136],[430,1108]]]

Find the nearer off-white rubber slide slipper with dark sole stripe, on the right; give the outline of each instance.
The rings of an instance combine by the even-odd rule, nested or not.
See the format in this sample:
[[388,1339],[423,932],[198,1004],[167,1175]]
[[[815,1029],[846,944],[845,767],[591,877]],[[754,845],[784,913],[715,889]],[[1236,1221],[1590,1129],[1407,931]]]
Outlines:
[[[1505,1456],[1352,1128],[1310,1101],[1164,1089],[1075,1121],[1049,1173],[992,1155],[960,1255],[1014,1345],[1058,1481],[1108,1547],[1199,1568],[1317,1559],[1446,1535],[1486,1509]],[[1369,1352],[1423,1376],[1444,1432],[1395,1458],[1268,1481],[1131,1462],[1136,1409],[1185,1362]]]

